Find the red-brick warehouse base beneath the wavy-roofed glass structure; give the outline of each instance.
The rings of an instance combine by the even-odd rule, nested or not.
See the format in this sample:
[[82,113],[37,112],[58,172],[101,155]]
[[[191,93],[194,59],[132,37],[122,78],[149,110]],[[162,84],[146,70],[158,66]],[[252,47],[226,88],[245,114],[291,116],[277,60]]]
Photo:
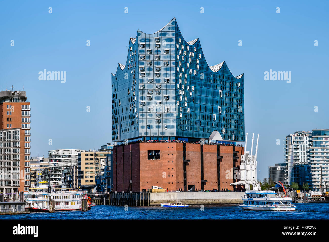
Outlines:
[[242,190],[244,147],[191,143],[135,143],[113,148],[113,191],[141,192],[152,186],[168,191]]

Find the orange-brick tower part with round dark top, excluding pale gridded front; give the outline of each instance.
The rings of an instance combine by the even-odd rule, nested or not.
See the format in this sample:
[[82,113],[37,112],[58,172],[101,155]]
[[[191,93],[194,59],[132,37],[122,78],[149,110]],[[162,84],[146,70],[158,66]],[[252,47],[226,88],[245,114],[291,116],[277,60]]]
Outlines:
[[[12,87],[12,90],[14,87]],[[0,130],[21,128],[20,135],[19,167],[24,170],[24,189],[29,190],[30,182],[30,130],[31,114],[30,102],[27,102],[25,91],[1,91],[0,92]],[[23,176],[23,175],[22,175]],[[20,185],[21,186],[21,185]]]

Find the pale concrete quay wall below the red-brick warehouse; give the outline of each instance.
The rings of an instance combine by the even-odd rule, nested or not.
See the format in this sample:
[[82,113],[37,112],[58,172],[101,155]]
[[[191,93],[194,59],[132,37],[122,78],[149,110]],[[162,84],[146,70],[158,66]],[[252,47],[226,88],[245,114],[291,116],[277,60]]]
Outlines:
[[185,202],[190,205],[199,204],[239,204],[244,192],[168,192],[150,193],[150,205],[162,202]]

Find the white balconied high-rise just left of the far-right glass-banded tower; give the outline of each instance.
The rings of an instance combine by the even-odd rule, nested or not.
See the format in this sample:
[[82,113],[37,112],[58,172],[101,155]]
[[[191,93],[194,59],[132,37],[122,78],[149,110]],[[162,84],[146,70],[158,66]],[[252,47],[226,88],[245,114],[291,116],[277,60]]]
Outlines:
[[306,183],[309,137],[310,131],[297,131],[286,137],[284,155],[287,170],[284,180],[287,185],[292,182],[299,185]]

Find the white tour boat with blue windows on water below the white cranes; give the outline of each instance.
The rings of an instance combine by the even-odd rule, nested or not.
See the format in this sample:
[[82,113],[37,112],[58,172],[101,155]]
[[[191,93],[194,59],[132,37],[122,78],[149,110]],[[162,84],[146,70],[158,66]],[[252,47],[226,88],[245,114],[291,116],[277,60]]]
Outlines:
[[245,210],[292,211],[296,206],[291,197],[281,196],[274,191],[246,191],[240,207]]

